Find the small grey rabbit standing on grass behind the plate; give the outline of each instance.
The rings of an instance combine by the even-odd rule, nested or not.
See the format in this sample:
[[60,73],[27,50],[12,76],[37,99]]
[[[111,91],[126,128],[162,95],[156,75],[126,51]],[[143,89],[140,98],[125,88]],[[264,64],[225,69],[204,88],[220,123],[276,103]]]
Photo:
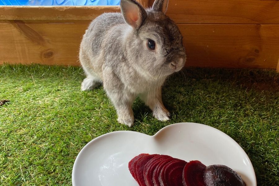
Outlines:
[[137,96],[160,121],[170,113],[162,102],[162,85],[185,64],[182,36],[165,15],[168,0],[144,9],[135,0],[121,0],[121,13],[104,13],[83,35],[79,60],[87,77],[81,89],[103,83],[119,123],[134,125],[132,104]]

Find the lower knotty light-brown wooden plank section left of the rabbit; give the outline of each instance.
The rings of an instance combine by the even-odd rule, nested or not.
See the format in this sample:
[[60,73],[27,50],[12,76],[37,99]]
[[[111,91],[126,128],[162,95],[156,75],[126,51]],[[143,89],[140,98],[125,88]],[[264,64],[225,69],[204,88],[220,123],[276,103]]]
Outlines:
[[0,23],[0,63],[78,65],[88,23]]

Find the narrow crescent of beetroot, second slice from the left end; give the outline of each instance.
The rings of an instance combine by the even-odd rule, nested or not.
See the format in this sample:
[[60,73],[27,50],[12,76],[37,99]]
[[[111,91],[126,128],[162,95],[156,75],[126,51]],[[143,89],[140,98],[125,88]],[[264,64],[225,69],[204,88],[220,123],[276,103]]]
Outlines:
[[146,155],[143,157],[140,157],[138,161],[134,164],[135,170],[136,170],[136,181],[140,186],[146,186],[144,181],[144,166],[147,164],[149,160],[151,160],[153,157],[159,156],[159,154],[151,154]]

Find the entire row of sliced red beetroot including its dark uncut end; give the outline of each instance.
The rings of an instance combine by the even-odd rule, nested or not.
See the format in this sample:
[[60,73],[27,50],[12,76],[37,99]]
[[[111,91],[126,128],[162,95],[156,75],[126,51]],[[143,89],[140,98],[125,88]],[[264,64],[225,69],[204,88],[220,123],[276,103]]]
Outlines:
[[139,186],[246,186],[234,170],[224,165],[205,166],[200,161],[159,154],[139,154],[129,162]]

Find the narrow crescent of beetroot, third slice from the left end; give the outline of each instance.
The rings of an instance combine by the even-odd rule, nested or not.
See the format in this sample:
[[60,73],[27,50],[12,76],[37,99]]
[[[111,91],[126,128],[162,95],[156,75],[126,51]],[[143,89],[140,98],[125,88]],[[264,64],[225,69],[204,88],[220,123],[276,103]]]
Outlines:
[[144,181],[147,186],[154,186],[153,183],[153,173],[157,165],[164,161],[165,159],[171,158],[168,155],[159,155],[153,157],[147,164],[144,166]]

